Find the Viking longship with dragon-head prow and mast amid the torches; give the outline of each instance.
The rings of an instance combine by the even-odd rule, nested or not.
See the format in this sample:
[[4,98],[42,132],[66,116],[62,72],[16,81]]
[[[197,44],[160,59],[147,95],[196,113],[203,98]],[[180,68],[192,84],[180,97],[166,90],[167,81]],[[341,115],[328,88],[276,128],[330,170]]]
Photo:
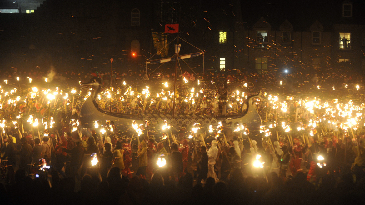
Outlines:
[[[147,64],[163,63],[169,61],[178,61],[179,59],[191,58],[203,54],[203,51],[179,55],[180,45],[175,45],[175,55],[170,58],[148,60]],[[175,73],[177,66],[175,67]],[[94,77],[88,83],[81,83],[82,89],[86,90],[92,88],[91,95],[84,101],[81,106],[80,121],[84,127],[93,127],[94,121],[105,122],[107,120],[114,121],[115,127],[125,134],[132,135],[135,132],[131,129],[132,121],[137,124],[145,124],[148,121],[150,124],[150,130],[160,130],[162,125],[165,124],[165,120],[174,127],[175,131],[180,130],[181,127],[186,126],[187,128],[193,124],[199,124],[200,127],[209,127],[209,125],[217,126],[219,121],[224,122],[227,128],[237,128],[238,126],[245,125],[250,131],[259,130],[261,125],[261,117],[258,114],[255,103],[257,98],[261,99],[261,91],[258,94],[247,97],[246,105],[247,109],[241,115],[230,115],[230,116],[210,116],[210,115],[175,115],[174,109],[172,115],[151,115],[151,114],[140,114],[138,116],[126,115],[121,113],[115,113],[110,111],[102,110],[96,103],[97,95],[101,91],[101,81],[99,78]],[[175,85],[174,91],[176,91],[176,74],[175,74]],[[176,92],[174,92],[176,93]],[[175,100],[175,99],[173,99]],[[225,96],[218,97],[218,103],[221,106],[226,106],[227,98]],[[176,108],[175,105],[173,108]]]

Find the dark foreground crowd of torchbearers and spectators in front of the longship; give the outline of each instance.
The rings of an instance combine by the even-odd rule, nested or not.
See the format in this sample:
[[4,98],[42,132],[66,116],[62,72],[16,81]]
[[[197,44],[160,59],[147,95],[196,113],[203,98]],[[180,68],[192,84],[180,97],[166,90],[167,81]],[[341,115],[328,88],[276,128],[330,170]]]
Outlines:
[[[91,134],[80,142],[66,132],[60,143],[48,137],[42,143],[39,138],[26,137],[15,143],[12,138],[16,139],[16,135],[5,138],[7,145],[1,152],[2,159],[7,160],[9,180],[0,191],[6,204],[364,202],[364,133],[358,136],[357,143],[350,137],[345,137],[346,143],[334,143],[327,136],[314,136],[310,138],[311,144],[302,145],[295,138],[294,146],[290,146],[280,138],[273,143],[274,150],[265,144],[259,146],[255,140],[250,148],[245,148],[247,139],[239,136],[230,139],[229,145],[222,137],[212,140],[207,147],[184,138],[168,147],[164,143],[156,146],[153,138],[144,137],[138,147],[138,159],[132,157],[125,139],[114,146],[95,143]],[[91,155],[99,155],[98,147],[103,150],[98,156],[99,164],[93,166]],[[16,155],[19,168],[14,175],[11,167],[17,165]],[[261,156],[261,163],[265,162],[262,167],[254,165],[257,155]],[[166,165],[158,166],[158,157],[164,158]],[[138,169],[130,167],[132,160],[138,160],[133,165]],[[51,165],[49,169],[43,169],[45,162]],[[80,187],[75,192],[77,182]]]

